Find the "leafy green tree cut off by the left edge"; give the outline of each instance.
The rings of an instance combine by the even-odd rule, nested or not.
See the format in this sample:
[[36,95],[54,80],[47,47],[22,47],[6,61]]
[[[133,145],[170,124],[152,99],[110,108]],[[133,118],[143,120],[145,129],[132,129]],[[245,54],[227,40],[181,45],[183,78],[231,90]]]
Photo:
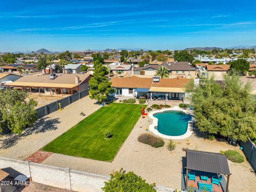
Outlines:
[[28,93],[19,90],[0,91],[0,132],[7,126],[12,133],[21,134],[37,119],[34,99],[26,100]]

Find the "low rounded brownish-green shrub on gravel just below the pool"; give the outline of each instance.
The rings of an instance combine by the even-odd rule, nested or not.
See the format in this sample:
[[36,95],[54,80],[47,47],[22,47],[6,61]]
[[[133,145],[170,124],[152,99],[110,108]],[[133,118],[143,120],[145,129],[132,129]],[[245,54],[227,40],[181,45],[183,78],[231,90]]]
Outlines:
[[164,140],[161,138],[156,137],[150,133],[143,133],[138,137],[138,141],[150,145],[151,147],[163,147]]

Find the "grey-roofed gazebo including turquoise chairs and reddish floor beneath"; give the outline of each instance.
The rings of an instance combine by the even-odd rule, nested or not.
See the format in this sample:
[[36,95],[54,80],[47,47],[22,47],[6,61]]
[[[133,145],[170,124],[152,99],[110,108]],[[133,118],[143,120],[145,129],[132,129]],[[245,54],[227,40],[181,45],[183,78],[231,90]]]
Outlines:
[[226,155],[188,149],[185,169],[182,170],[182,190],[228,191],[231,173]]

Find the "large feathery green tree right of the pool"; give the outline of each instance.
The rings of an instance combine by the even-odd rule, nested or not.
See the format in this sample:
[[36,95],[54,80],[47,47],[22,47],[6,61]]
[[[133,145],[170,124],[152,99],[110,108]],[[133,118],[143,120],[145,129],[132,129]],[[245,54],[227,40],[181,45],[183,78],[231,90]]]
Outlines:
[[243,85],[235,74],[224,79],[223,87],[213,77],[187,87],[199,130],[241,141],[255,138],[256,102],[250,84]]

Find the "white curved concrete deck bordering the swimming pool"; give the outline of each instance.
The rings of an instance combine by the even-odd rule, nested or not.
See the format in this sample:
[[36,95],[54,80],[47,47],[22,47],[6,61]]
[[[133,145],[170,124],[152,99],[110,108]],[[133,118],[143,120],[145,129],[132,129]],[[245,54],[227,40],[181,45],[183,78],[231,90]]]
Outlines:
[[155,127],[158,124],[158,118],[154,117],[153,115],[156,114],[156,113],[162,113],[164,111],[182,111],[185,114],[193,116],[193,114],[189,113],[189,111],[187,111],[185,109],[181,109],[178,106],[174,106],[172,108],[165,108],[165,109],[152,111],[148,114],[149,118],[153,119],[153,123],[151,125],[149,125],[149,130],[151,132],[153,132],[158,137],[162,137],[162,138],[165,138],[165,139],[186,139],[186,138],[191,136],[191,134],[193,133],[193,126],[192,126],[193,121],[188,122],[187,132],[185,134],[182,134],[182,135],[179,135],[179,136],[169,136],[169,135],[165,135],[165,134],[162,134],[162,133],[158,132],[158,130],[155,129]]

